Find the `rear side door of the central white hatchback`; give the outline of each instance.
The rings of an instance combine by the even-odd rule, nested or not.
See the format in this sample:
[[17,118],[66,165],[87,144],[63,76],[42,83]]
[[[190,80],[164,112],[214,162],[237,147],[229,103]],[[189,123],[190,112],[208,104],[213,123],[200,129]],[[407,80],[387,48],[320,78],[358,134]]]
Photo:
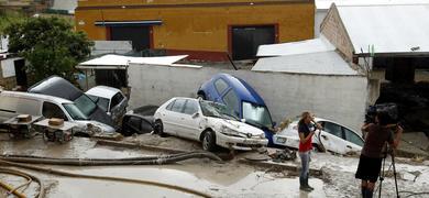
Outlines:
[[162,121],[164,124],[164,132],[173,135],[182,134],[182,114],[185,103],[185,99],[176,99],[169,109],[167,107],[167,109],[161,112]]

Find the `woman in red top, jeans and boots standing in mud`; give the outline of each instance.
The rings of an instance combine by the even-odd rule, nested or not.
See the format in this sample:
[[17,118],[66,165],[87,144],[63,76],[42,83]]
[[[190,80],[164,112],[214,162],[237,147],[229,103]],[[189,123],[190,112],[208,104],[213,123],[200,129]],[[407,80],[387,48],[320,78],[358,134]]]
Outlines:
[[[314,129],[314,130],[310,130]],[[301,158],[301,173],[299,175],[299,189],[311,191],[312,188],[308,185],[310,169],[310,152],[312,150],[312,135],[316,129],[321,129],[321,125],[316,123],[310,112],[304,112],[298,122],[299,133],[299,157]]]

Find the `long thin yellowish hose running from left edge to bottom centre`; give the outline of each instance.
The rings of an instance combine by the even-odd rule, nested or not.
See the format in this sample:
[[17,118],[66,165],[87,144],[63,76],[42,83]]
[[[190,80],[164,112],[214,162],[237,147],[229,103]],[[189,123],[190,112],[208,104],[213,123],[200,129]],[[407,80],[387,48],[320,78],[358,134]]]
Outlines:
[[9,165],[9,166],[15,166],[15,167],[25,168],[25,169],[32,169],[32,170],[42,172],[42,173],[45,173],[45,174],[64,176],[64,177],[86,178],[86,179],[97,179],[97,180],[111,180],[111,182],[151,185],[151,186],[157,186],[157,187],[163,187],[163,188],[169,188],[169,189],[178,190],[178,191],[186,193],[186,194],[193,194],[193,195],[200,196],[200,197],[211,197],[210,195],[208,195],[206,193],[201,193],[201,191],[198,191],[198,190],[195,190],[195,189],[185,188],[185,187],[175,186],[175,185],[169,185],[169,184],[164,184],[164,183],[152,182],[152,180],[74,174],[74,173],[69,173],[69,172],[56,170],[56,169],[52,169],[52,168],[38,167],[38,166],[26,165],[26,164],[21,164],[21,163],[13,163],[13,162],[8,162],[8,161],[3,161],[3,160],[0,160],[0,164]]

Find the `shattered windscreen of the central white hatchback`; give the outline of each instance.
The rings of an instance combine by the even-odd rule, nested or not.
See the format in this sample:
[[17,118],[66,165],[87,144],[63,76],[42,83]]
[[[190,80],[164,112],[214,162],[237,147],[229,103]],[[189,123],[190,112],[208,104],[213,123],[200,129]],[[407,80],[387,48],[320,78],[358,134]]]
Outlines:
[[199,103],[201,106],[202,114],[206,117],[239,120],[235,116],[233,116],[233,111],[224,105],[205,100],[201,100]]

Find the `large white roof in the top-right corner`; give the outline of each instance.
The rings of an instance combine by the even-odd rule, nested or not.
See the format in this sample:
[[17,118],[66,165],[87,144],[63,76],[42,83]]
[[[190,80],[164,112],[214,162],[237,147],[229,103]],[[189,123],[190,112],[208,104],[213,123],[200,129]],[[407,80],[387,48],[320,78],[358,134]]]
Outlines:
[[337,8],[356,54],[429,53],[429,4]]

